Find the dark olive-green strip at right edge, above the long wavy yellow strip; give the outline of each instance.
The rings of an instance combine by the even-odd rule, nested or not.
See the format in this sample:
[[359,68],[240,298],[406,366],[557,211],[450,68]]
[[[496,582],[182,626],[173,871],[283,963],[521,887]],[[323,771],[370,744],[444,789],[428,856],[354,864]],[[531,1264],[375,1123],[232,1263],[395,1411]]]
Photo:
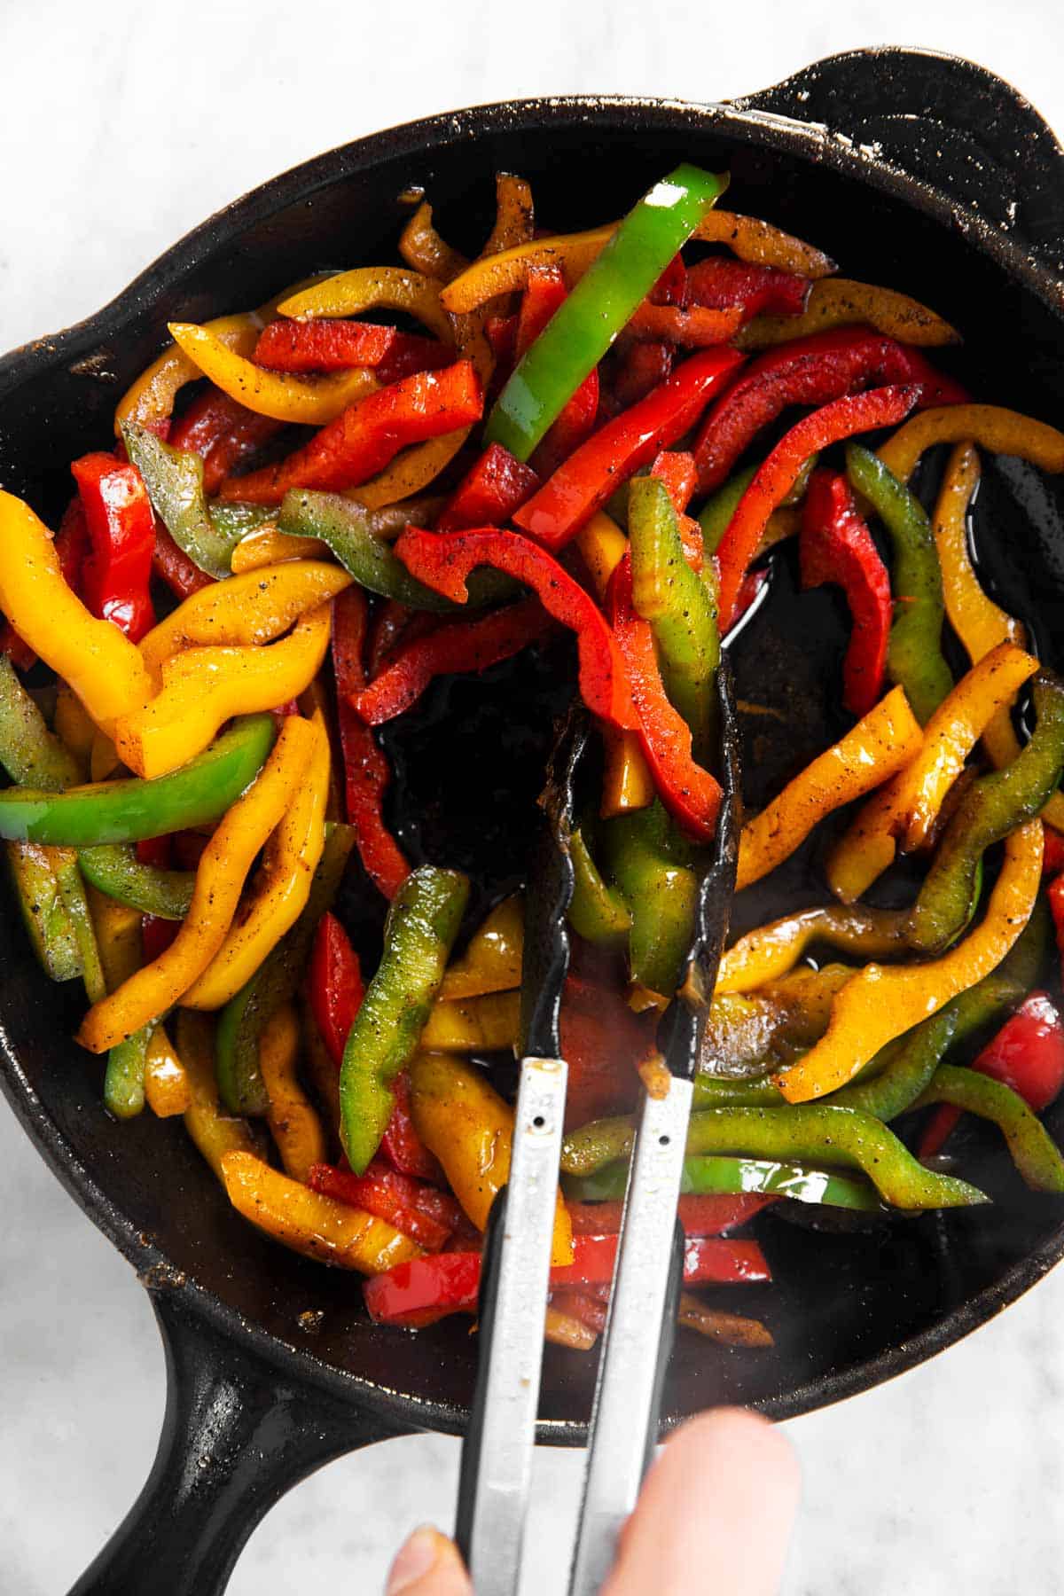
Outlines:
[[919,953],[948,946],[968,915],[983,854],[1045,808],[1064,771],[1064,681],[1040,670],[1032,697],[1037,723],[1011,764],[971,784],[946,827],[909,916]]

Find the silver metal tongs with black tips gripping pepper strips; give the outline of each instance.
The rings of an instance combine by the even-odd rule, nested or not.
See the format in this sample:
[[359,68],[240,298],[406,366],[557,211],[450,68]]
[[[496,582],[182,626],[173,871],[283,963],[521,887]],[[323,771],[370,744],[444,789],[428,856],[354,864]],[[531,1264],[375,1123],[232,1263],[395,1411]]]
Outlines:
[[[635,1507],[657,1441],[675,1336],[683,1280],[676,1207],[688,1119],[739,852],[739,736],[727,664],[718,670],[718,701],[724,798],[702,870],[688,975],[657,1033],[672,1080],[664,1096],[644,1093],[640,1111],[598,1363],[569,1596],[598,1591],[614,1561],[617,1535]],[[566,1065],[560,1057],[558,1018],[569,966],[568,841],[587,736],[587,721],[571,713],[550,757],[542,798],[547,827],[530,878],[514,1151],[509,1184],[496,1197],[485,1242],[480,1366],[458,1487],[456,1539],[477,1596],[514,1596],[520,1577],[565,1117]],[[648,1336],[648,1325],[656,1325],[657,1334]]]

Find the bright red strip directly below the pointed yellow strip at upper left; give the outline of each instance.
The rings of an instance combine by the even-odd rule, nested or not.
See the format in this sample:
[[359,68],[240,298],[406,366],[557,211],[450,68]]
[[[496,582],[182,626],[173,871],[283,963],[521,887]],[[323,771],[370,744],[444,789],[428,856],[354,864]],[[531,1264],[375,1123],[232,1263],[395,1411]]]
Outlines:
[[279,504],[289,488],[353,488],[381,471],[407,444],[471,426],[482,410],[483,393],[472,361],[415,372],[348,405],[276,466],[223,482],[219,496]]

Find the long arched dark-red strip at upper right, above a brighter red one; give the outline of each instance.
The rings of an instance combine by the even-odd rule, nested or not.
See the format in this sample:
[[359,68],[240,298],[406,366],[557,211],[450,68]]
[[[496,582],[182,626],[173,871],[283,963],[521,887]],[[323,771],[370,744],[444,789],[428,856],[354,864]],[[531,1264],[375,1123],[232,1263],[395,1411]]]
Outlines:
[[825,405],[861,388],[917,383],[920,405],[959,404],[965,389],[919,350],[866,327],[839,327],[767,350],[713,405],[694,445],[699,492],[731,476],[758,433],[788,405]]

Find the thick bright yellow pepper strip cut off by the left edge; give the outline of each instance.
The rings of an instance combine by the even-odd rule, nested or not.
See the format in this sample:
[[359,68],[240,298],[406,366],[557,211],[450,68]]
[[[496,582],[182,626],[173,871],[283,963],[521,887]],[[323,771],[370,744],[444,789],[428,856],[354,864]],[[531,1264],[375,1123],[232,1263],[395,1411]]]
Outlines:
[[107,728],[152,694],[136,645],[97,621],[62,575],[53,536],[29,504],[0,490],[0,610],[21,638]]

